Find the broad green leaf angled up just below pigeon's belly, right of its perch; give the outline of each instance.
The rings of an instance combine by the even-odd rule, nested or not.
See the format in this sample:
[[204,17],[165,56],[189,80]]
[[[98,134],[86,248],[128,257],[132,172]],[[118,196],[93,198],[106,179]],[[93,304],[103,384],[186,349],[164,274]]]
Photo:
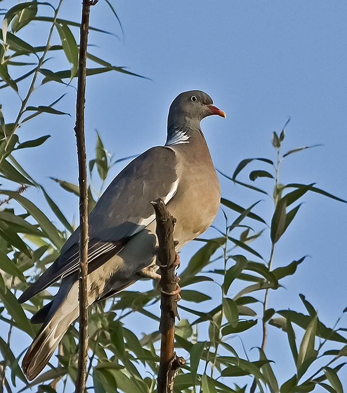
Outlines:
[[220,246],[225,243],[224,237],[208,240],[200,250],[198,250],[188,263],[186,270],[181,273],[181,278],[186,279],[190,276],[195,276],[206,265],[210,263],[211,256],[218,250]]

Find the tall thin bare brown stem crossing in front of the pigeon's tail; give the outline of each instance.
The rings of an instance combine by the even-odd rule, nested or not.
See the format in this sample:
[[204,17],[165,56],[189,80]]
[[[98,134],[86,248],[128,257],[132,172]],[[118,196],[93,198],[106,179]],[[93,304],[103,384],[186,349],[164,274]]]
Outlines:
[[79,161],[80,186],[80,332],[79,332],[79,361],[76,379],[76,393],[84,393],[86,384],[86,366],[88,359],[88,293],[87,293],[87,260],[88,260],[88,197],[87,197],[87,159],[84,141],[84,104],[85,79],[87,62],[87,42],[90,6],[97,1],[83,0],[82,20],[80,26],[80,58],[76,101],[75,134]]

